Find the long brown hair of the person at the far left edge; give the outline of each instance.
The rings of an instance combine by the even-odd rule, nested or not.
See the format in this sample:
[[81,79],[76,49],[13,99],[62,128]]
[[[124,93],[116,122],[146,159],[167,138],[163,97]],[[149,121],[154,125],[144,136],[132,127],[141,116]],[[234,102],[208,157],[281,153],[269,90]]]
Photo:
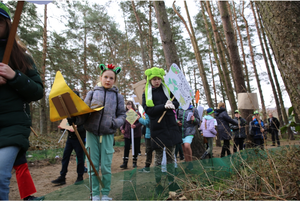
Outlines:
[[[8,39],[12,22],[7,17],[4,17],[4,20],[6,21],[7,29],[6,38]],[[16,34],[8,65],[11,69],[19,70],[25,74],[28,69],[32,69],[32,62],[30,61],[30,59],[32,59],[32,62],[34,62],[34,59],[29,54],[29,50],[27,49],[25,44],[20,40],[19,36]]]

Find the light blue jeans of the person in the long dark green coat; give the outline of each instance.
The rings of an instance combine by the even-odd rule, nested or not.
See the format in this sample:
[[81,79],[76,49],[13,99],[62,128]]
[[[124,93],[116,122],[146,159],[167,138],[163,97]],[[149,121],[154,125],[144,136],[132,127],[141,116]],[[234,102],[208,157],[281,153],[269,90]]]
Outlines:
[[0,148],[0,200],[8,200],[11,170],[19,151],[16,146]]

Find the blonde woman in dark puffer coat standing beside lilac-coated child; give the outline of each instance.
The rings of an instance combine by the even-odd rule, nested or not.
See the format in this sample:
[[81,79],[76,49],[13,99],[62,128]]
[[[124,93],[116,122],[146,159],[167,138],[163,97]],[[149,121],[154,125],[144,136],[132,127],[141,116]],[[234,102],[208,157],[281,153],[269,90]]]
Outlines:
[[221,151],[221,157],[224,157],[226,152],[227,152],[227,156],[231,154],[230,153],[231,129],[229,128],[229,123],[238,126],[238,122],[228,116],[225,109],[225,103],[219,102],[218,108],[219,109],[215,109],[214,112],[216,112],[215,117],[218,124],[218,132],[219,132],[220,140],[224,141],[222,151]]

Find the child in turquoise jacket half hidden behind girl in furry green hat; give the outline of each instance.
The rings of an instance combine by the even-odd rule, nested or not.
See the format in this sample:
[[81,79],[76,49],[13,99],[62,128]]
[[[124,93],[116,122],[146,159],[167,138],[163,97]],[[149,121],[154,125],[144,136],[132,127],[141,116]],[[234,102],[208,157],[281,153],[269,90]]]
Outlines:
[[139,122],[146,126],[146,135],[145,135],[145,144],[146,144],[146,162],[145,167],[140,169],[139,172],[149,173],[150,172],[150,165],[152,163],[152,152],[153,149],[151,147],[151,139],[150,139],[150,119],[148,114],[145,114],[145,119],[137,117]]

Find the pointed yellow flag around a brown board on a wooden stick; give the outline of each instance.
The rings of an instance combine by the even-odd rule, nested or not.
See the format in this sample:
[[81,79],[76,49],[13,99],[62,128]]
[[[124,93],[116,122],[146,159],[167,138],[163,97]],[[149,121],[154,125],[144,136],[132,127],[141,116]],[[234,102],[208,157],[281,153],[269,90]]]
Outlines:
[[101,107],[101,108],[97,108],[97,109],[93,110],[90,107],[88,107],[88,105],[86,105],[85,102],[81,98],[79,98],[76,95],[76,93],[74,93],[70,89],[70,87],[64,81],[64,77],[61,75],[61,72],[58,71],[58,72],[56,72],[55,80],[53,82],[53,85],[52,85],[52,88],[51,88],[51,91],[49,94],[50,120],[52,122],[67,118],[67,116],[63,116],[63,117],[59,116],[59,114],[52,102],[52,98],[59,96],[61,94],[64,94],[64,93],[70,93],[70,96],[71,96],[71,98],[74,102],[74,105],[78,111],[76,113],[70,114],[71,117],[77,116],[80,114],[86,114],[86,113],[90,113],[90,112],[99,111],[103,108],[103,107]]

